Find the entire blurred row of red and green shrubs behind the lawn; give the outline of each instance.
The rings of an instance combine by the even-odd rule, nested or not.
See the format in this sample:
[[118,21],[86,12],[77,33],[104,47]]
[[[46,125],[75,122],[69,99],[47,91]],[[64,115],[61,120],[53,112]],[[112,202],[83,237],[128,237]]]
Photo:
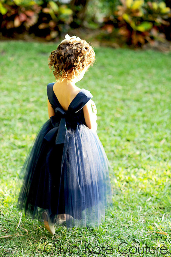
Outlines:
[[[165,0],[166,2],[170,0]],[[102,37],[119,44],[142,46],[171,34],[170,8],[164,1],[148,0],[0,0],[0,28],[3,36],[27,31],[46,40],[55,39],[70,27],[82,24],[103,28]],[[168,29],[166,29],[168,28]],[[164,34],[165,33],[165,34]],[[169,38],[169,36],[168,36]]]

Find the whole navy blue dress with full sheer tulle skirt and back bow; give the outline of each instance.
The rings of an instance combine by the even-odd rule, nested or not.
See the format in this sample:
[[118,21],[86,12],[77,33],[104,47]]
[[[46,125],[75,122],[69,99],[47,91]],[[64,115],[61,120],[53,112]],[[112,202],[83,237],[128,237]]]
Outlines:
[[93,96],[82,88],[65,111],[53,85],[47,85],[47,96],[55,115],[39,129],[19,173],[17,207],[40,221],[47,211],[53,223],[65,214],[67,228],[98,226],[112,195],[109,161],[83,114]]

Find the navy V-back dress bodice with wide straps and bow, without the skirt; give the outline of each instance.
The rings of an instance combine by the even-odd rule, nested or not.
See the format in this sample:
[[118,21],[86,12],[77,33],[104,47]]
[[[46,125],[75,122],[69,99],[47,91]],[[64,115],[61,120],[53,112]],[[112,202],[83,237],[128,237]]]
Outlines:
[[90,93],[90,91],[82,88],[71,101],[66,111],[59,103],[53,91],[53,85],[54,83],[49,83],[47,85],[47,96],[52,108],[55,111],[55,115],[50,117],[53,128],[44,138],[50,141],[54,136],[54,133],[57,133],[55,143],[60,144],[68,142],[66,135],[68,127],[76,129],[77,125],[85,125],[85,118],[82,108],[93,97],[93,95]]

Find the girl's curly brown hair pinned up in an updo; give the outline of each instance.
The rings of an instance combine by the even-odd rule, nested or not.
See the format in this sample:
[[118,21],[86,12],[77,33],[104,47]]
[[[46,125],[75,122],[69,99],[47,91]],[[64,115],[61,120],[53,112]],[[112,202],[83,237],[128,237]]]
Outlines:
[[72,43],[65,40],[51,52],[48,61],[56,80],[72,80],[79,76],[85,67],[94,63],[95,52],[84,39]]

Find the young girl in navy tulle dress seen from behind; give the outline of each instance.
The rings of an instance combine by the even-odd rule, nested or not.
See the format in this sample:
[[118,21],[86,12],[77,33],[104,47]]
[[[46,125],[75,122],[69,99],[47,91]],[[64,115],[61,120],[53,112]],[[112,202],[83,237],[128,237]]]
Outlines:
[[44,221],[52,235],[55,224],[99,226],[112,203],[93,96],[75,85],[94,61],[93,48],[68,34],[51,52],[49,67],[56,82],[47,85],[49,120],[38,131],[18,176],[24,174],[17,207]]

